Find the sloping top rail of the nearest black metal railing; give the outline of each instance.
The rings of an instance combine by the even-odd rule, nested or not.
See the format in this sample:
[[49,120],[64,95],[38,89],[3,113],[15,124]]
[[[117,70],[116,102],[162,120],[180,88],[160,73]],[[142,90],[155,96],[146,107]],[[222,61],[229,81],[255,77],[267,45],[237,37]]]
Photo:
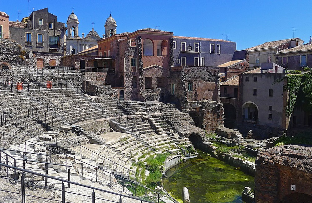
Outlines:
[[[15,167],[15,166],[9,166],[9,165],[3,164],[3,163],[0,163],[0,166],[4,166],[4,167],[6,167],[6,168],[11,168],[11,169],[14,169],[14,170],[22,171],[22,172],[24,172],[24,173],[30,173],[30,174],[34,174],[34,175],[37,175],[37,176],[42,176],[42,177],[45,177],[45,178],[54,179],[54,180],[56,180],[56,181],[61,181],[62,183],[65,182],[65,183],[68,183],[68,184],[73,184],[73,185],[77,185],[77,186],[89,188],[89,189],[96,190],[96,191],[106,192],[106,193],[110,193],[110,194],[113,194],[113,195],[122,196],[122,197],[129,198],[129,199],[133,199],[133,200],[139,200],[139,201],[142,201],[142,202],[154,203],[154,202],[152,202],[152,201],[142,200],[142,199],[139,199],[139,198],[136,198],[136,197],[126,196],[126,195],[123,195],[123,194],[118,194],[118,193],[116,193],[116,192],[107,191],[107,190],[103,190],[103,189],[96,188],[96,187],[92,187],[92,186],[83,185],[83,184],[76,183],[76,182],[72,182],[72,181],[67,181],[67,180],[64,180],[64,179],[61,179],[61,178],[57,178],[57,177],[53,177],[53,176],[47,176],[47,175],[44,175],[44,174],[41,174],[41,173],[29,171],[29,170],[26,170],[26,169],[21,169],[21,168]],[[64,185],[63,185],[63,186],[64,186]],[[65,191],[64,191],[64,192],[65,192]],[[120,198],[120,199],[121,199],[121,198]],[[121,202],[121,201],[119,200],[119,202]],[[158,200],[158,202],[159,202],[159,200]]]

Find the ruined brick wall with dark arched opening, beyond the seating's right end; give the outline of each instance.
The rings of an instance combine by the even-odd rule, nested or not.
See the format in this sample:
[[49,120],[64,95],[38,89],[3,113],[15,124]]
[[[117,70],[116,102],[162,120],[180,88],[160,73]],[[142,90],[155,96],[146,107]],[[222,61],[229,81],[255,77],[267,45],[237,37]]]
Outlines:
[[[224,110],[222,102],[216,101],[189,101],[188,113],[198,127],[206,131],[215,131],[223,125]],[[196,116],[196,117],[194,117]]]

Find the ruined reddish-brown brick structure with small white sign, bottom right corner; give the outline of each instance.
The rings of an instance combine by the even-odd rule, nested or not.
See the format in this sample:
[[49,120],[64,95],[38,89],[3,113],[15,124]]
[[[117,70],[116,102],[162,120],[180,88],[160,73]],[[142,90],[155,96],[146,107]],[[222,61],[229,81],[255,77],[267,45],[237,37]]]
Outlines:
[[312,202],[310,147],[275,146],[256,160],[255,202]]

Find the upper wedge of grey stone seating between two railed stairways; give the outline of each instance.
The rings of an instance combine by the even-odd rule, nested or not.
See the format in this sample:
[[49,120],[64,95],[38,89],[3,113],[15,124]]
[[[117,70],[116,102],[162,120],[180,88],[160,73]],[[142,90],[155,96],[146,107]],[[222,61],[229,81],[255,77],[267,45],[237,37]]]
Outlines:
[[[79,123],[86,120],[103,118],[102,110],[91,105],[85,95],[76,93],[73,90],[46,90],[33,92],[34,97],[41,98],[47,102],[50,108],[55,110],[61,117],[64,115],[65,121],[69,123]],[[104,113],[104,112],[103,112]]]

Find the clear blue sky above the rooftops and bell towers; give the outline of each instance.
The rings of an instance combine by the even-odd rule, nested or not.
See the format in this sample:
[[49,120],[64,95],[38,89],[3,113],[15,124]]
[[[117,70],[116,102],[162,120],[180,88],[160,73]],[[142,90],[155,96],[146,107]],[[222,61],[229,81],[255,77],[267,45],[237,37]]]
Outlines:
[[[28,0],[0,0],[0,11],[11,21],[28,16]],[[222,39],[228,34],[236,49],[256,46],[263,42],[295,37],[309,42],[312,35],[311,1],[100,1],[100,0],[30,0],[29,8],[48,11],[66,23],[71,7],[79,18],[79,35],[92,28],[102,37],[110,11],[117,21],[117,33],[141,28],[171,31],[174,35]],[[224,37],[226,39],[226,37]]]

